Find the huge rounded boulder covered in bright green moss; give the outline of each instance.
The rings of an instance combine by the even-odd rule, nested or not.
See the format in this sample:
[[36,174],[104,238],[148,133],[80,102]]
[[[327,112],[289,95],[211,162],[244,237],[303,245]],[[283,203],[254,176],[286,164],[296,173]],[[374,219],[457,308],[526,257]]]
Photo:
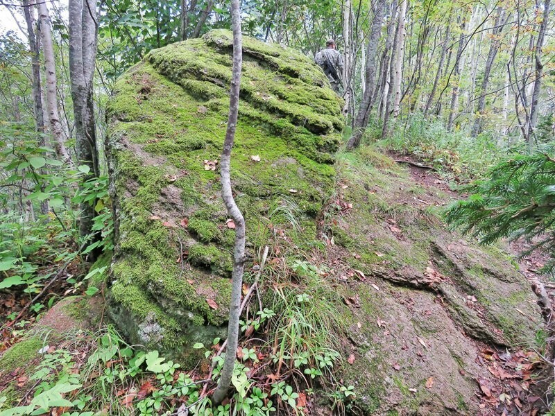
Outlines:
[[[343,118],[341,98],[305,55],[249,37],[243,54],[231,177],[252,255],[285,198],[315,233]],[[225,334],[234,231],[218,158],[231,67],[229,31],[157,49],[117,81],[108,110],[116,228],[108,310],[133,343],[174,355]]]

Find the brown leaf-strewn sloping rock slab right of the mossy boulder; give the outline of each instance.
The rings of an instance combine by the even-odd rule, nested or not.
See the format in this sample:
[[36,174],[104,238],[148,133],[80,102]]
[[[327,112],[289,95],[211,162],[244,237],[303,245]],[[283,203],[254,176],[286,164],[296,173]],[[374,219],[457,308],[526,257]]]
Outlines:
[[[352,209],[328,235],[348,253],[350,353],[345,379],[364,414],[533,415],[540,310],[518,264],[445,231],[456,198],[428,170],[361,149],[339,159]],[[357,271],[358,270],[358,271]],[[349,296],[349,295],[348,295]],[[353,307],[354,306],[354,307]],[[545,398],[544,398],[545,399]]]

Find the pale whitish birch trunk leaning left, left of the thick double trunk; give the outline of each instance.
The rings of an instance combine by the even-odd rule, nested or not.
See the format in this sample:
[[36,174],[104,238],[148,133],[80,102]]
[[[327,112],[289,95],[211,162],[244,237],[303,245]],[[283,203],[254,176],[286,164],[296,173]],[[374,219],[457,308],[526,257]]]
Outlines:
[[46,110],[52,136],[54,138],[56,153],[68,166],[74,166],[69,153],[65,148],[62,123],[60,122],[60,113],[58,112],[58,96],[56,77],[56,61],[54,60],[54,48],[52,43],[52,29],[50,24],[50,16],[46,3],[40,1],[37,3],[40,18],[40,33],[42,36],[42,52],[44,54],[44,69],[46,71]]

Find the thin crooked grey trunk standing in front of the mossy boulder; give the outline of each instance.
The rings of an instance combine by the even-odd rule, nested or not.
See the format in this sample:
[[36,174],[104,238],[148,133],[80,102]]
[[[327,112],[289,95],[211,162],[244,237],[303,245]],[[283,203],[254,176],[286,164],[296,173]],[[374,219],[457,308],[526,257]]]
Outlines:
[[230,302],[230,320],[228,323],[228,346],[221,370],[218,388],[212,399],[219,404],[228,390],[235,366],[235,354],[239,341],[239,315],[241,314],[241,288],[243,286],[243,271],[245,263],[245,220],[233,198],[230,179],[231,149],[235,138],[237,114],[239,113],[239,90],[241,88],[241,65],[243,62],[243,47],[241,37],[241,6],[239,0],[231,1],[231,17],[233,29],[233,69],[230,89],[230,112],[228,128],[225,132],[223,150],[221,153],[221,196],[228,213],[235,223],[235,245],[233,250],[233,272]]

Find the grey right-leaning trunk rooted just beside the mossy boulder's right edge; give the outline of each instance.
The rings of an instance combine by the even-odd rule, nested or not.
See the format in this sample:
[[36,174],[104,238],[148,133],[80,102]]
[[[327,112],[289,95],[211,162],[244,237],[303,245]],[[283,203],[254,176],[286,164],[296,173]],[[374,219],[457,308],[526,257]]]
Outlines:
[[360,146],[360,140],[364,133],[364,129],[368,125],[370,112],[372,111],[372,98],[375,91],[375,74],[377,67],[377,46],[379,35],[382,33],[382,21],[384,19],[386,0],[379,0],[376,4],[376,10],[372,26],[370,28],[370,39],[368,40],[368,48],[366,49],[366,70],[364,74],[364,94],[360,103],[357,117],[355,118],[355,131],[350,137],[347,148],[352,150]]

